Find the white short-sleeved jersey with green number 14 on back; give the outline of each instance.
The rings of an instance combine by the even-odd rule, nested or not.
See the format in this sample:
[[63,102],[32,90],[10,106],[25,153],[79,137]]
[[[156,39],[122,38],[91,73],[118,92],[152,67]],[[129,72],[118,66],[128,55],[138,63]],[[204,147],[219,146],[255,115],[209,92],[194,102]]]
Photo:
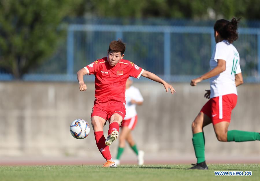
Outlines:
[[218,59],[226,61],[226,70],[210,79],[210,98],[227,94],[236,94],[235,75],[241,73],[239,53],[237,49],[223,40],[216,44],[209,61],[211,70],[217,67]]

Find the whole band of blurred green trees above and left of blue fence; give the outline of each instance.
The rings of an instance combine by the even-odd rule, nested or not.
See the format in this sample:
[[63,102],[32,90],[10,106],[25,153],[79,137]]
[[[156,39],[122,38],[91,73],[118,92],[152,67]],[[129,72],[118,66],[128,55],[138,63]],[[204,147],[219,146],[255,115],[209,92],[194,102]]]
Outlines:
[[[0,0],[0,68],[21,78],[66,38],[67,17],[260,20],[260,0]],[[125,21],[127,24],[128,21]]]

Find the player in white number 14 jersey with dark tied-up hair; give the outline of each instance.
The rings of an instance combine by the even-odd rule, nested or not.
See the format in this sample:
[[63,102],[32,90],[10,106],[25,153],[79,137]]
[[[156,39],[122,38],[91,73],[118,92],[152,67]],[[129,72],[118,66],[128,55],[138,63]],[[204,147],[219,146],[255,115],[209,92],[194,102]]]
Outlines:
[[203,127],[212,123],[218,141],[255,141],[260,140],[257,132],[239,130],[228,131],[231,111],[237,103],[236,87],[243,84],[239,65],[239,53],[232,45],[237,40],[237,24],[240,19],[231,21],[220,19],[214,25],[216,47],[209,61],[211,71],[191,80],[191,86],[210,78],[210,90],[206,90],[209,101],[200,110],[192,123],[192,143],[197,163],[190,169],[208,169],[205,162],[205,138]]

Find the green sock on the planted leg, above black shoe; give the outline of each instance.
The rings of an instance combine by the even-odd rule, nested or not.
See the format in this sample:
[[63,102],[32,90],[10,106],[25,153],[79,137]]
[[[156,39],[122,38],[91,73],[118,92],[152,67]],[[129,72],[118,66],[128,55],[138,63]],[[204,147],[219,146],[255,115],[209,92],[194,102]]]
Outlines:
[[197,163],[204,162],[205,161],[204,133],[200,132],[200,133],[193,134],[192,143],[197,158]]

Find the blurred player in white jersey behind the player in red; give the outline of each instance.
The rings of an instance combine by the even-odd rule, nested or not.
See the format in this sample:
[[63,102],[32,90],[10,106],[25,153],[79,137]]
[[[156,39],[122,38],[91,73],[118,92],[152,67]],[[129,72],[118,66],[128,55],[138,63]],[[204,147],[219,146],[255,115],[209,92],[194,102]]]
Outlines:
[[114,162],[116,165],[120,164],[120,156],[122,155],[124,148],[125,148],[125,141],[127,141],[130,145],[130,147],[133,149],[135,154],[138,157],[138,165],[144,164],[144,152],[142,150],[138,150],[136,147],[135,142],[133,141],[133,137],[131,134],[131,130],[135,128],[135,125],[137,123],[137,112],[135,110],[136,105],[142,105],[143,104],[143,97],[139,91],[138,88],[132,86],[133,84],[133,78],[129,77],[127,79],[126,85],[125,85],[125,109],[126,114],[124,121],[122,123],[122,131],[120,133],[119,137],[119,145],[118,145],[118,152],[116,156],[116,160]]

